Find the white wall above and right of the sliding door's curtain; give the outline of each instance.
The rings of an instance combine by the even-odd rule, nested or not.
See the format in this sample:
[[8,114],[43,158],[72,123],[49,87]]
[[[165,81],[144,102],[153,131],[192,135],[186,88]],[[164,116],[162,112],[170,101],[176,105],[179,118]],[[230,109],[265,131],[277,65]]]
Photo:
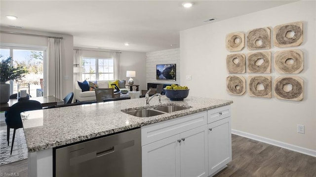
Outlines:
[[[62,87],[63,95],[66,96],[69,92],[73,92],[73,48],[74,37],[72,35],[54,34],[40,31],[20,30],[9,27],[1,27],[1,31],[19,32],[35,35],[51,35],[63,37],[61,40],[61,57],[62,57]],[[0,34],[0,43],[40,46],[47,48],[47,37],[29,36],[29,35],[15,35],[15,34]],[[60,98],[64,99],[64,98]]]

